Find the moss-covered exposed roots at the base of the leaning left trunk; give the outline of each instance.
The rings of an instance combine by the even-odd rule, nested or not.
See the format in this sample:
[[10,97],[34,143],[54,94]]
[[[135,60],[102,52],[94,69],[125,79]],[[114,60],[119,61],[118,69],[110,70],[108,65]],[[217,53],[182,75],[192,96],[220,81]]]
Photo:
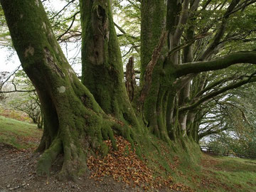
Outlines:
[[58,175],[59,179],[76,181],[80,174],[89,172],[86,164],[89,148],[92,149],[90,151],[92,154],[107,156],[110,148],[104,141],[110,140],[112,149],[117,150],[114,134],[127,139],[132,149],[135,149],[136,134],[131,127],[108,116],[93,115],[95,116],[90,116],[89,121],[85,121],[87,126],[84,129],[79,129],[79,127],[73,129],[72,126],[67,125],[67,122],[65,125],[60,124],[58,136],[38,161],[38,176],[50,176],[51,165],[58,154],[63,154],[63,165]]

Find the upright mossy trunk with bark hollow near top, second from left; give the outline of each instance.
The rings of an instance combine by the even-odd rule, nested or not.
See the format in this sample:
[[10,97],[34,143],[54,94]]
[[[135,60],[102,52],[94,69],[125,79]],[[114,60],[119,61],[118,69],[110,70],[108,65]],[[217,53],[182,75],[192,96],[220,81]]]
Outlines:
[[109,0],[80,0],[82,83],[102,110],[138,127],[124,86],[124,72]]

